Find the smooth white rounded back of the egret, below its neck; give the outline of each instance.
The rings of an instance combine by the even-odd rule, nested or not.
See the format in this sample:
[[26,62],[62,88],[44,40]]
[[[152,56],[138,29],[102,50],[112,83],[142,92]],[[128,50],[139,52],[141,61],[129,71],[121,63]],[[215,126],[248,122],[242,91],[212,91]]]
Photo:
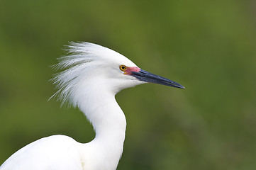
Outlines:
[[64,135],[44,137],[19,149],[1,165],[2,169],[82,170],[79,144]]

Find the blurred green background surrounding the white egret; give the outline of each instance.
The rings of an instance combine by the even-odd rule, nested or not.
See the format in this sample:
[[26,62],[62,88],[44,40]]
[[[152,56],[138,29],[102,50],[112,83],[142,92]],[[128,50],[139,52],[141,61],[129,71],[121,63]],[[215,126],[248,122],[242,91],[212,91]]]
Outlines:
[[78,109],[48,101],[69,41],[186,87],[116,96],[128,122],[118,169],[256,169],[255,0],[0,0],[0,164],[41,137],[94,138]]

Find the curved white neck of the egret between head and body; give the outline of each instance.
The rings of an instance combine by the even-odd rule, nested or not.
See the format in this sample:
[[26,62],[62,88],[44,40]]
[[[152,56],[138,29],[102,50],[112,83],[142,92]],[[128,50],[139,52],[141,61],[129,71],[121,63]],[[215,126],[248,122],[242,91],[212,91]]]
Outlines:
[[87,91],[87,99],[84,98],[84,103],[79,105],[96,132],[94,140],[86,144],[87,152],[91,152],[91,158],[86,159],[93,162],[91,159],[95,156],[97,169],[116,169],[123,152],[126,117],[114,94],[98,92]]

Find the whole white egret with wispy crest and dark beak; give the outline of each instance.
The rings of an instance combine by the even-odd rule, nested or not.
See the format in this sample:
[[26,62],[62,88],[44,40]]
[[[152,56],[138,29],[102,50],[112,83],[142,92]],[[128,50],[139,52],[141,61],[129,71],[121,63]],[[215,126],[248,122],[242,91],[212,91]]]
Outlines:
[[52,135],[30,143],[11,155],[1,170],[113,170],[123,152],[126,117],[116,102],[118,91],[146,82],[180,84],[137,67],[118,52],[89,42],[71,42],[55,76],[62,103],[78,107],[96,132],[94,140],[79,143],[65,135]]

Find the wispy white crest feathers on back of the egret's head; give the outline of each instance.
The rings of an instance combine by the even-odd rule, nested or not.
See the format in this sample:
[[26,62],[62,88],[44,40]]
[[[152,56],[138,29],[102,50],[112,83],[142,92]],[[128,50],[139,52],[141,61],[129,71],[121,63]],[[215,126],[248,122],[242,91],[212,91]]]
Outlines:
[[77,100],[74,96],[77,94],[79,90],[77,87],[83,79],[81,75],[89,71],[87,69],[89,66],[93,67],[94,64],[91,62],[99,60],[101,52],[106,50],[109,52],[109,49],[89,42],[69,42],[66,47],[67,56],[58,58],[59,63],[53,66],[59,73],[51,79],[57,88],[57,92],[51,98],[56,97],[57,101],[62,101],[62,105],[69,103],[77,106]]

